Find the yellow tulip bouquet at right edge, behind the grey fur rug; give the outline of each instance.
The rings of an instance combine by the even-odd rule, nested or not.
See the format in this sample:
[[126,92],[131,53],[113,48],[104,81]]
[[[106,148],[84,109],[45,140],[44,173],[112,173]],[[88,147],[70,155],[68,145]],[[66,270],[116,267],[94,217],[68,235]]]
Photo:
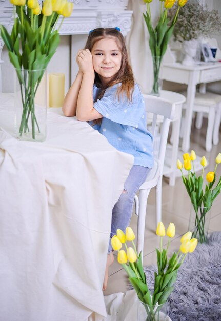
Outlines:
[[[202,175],[199,177],[196,177],[194,169],[194,160],[196,159],[195,152],[192,150],[191,154],[185,153],[183,154],[183,158],[184,164],[182,164],[179,159],[177,160],[177,168],[182,172],[183,182],[195,211],[195,228],[193,236],[198,237],[200,243],[204,243],[207,241],[207,231],[205,231],[206,214],[211,209],[214,199],[221,191],[221,177],[219,177],[218,183],[214,187],[216,168],[217,165],[221,163],[221,153],[219,153],[215,159],[216,165],[214,171],[208,172],[206,175],[208,184],[205,186],[205,191],[203,190],[203,176],[204,168],[207,166],[206,157],[203,156],[201,159],[200,163],[203,167],[203,171]],[[182,171],[183,167],[188,171],[188,177],[184,176]]]

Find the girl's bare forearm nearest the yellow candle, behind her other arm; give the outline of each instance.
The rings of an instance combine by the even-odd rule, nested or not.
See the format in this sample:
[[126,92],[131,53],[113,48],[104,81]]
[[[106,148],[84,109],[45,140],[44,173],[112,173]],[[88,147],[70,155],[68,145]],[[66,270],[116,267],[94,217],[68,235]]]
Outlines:
[[71,85],[69,91],[67,92],[63,105],[62,111],[65,116],[76,116],[76,109],[77,109],[77,97],[79,94],[79,90],[81,88],[83,78],[83,72],[79,70],[75,81]]

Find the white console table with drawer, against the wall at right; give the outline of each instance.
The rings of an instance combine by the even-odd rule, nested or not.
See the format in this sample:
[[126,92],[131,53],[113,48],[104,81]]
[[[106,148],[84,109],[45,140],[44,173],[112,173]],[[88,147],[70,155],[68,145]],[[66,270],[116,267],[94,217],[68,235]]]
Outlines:
[[188,152],[190,148],[190,134],[193,115],[193,104],[196,93],[196,85],[200,83],[211,83],[221,80],[221,63],[201,63],[193,66],[184,66],[180,63],[166,63],[162,68],[162,79],[186,84],[187,87],[187,109],[185,115],[185,134],[182,142],[182,150]]

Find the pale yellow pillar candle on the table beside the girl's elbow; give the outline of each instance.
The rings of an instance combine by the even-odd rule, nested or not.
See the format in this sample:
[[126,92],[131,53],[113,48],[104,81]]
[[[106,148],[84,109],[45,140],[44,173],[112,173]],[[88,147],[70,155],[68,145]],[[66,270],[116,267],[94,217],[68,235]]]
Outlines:
[[65,98],[65,74],[49,74],[49,106],[62,107]]

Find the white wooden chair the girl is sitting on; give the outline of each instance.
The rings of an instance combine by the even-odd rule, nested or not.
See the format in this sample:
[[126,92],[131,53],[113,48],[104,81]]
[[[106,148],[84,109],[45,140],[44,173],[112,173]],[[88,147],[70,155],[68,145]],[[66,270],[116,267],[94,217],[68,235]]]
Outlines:
[[[167,147],[168,132],[170,121],[174,118],[175,104],[166,99],[143,95],[147,118],[152,113],[152,125],[149,129],[153,135],[154,165],[151,169],[146,182],[139,188],[139,197],[135,195],[135,214],[138,215],[137,224],[137,251],[144,248],[145,219],[147,209],[147,199],[152,187],[156,187],[156,225],[162,216],[162,176],[164,158]],[[157,122],[160,118],[160,122]]]

